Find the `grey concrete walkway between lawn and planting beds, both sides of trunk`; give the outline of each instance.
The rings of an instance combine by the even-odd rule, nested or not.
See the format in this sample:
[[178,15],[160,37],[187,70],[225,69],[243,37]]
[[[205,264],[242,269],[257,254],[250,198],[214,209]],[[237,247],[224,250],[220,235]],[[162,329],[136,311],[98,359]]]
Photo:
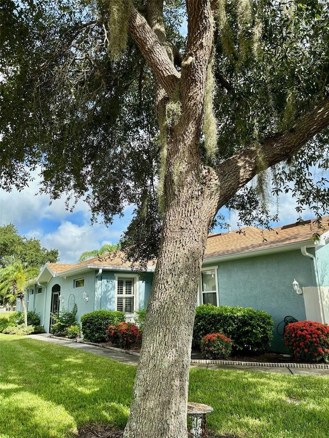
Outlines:
[[[139,356],[126,354],[118,350],[109,350],[107,348],[97,347],[96,345],[86,344],[85,342],[75,342],[69,339],[50,337],[49,333],[42,333],[38,335],[26,336],[32,339],[43,340],[51,342],[52,344],[59,344],[65,347],[83,350],[88,353],[97,354],[98,356],[107,357],[109,359],[118,360],[123,364],[137,365]],[[313,375],[313,376],[328,376],[329,369],[318,368],[295,368],[295,367],[274,367],[274,366],[250,366],[250,365],[216,365],[207,363],[191,363],[191,368],[207,368],[209,370],[218,369],[234,369],[241,371],[261,371],[266,373],[280,373],[289,375]]]

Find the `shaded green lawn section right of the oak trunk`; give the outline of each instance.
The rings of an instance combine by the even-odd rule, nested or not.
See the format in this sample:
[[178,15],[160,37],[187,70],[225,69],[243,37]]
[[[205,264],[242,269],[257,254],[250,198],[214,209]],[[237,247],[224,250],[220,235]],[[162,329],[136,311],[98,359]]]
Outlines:
[[210,405],[208,426],[254,437],[327,438],[329,379],[234,370],[191,370],[189,398]]

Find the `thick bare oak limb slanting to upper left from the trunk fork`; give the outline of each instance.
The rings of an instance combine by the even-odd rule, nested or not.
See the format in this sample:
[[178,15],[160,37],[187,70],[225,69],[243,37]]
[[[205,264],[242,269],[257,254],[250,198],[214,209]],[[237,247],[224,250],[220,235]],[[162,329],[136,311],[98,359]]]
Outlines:
[[129,31],[156,79],[166,90],[168,97],[171,97],[180,79],[180,73],[145,18],[133,6],[130,7]]

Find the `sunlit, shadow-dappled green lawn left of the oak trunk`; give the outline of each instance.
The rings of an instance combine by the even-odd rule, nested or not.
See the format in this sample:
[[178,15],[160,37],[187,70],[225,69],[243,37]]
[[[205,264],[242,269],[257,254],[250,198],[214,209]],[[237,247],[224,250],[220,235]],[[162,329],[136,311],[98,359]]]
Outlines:
[[62,438],[87,423],[124,427],[135,367],[34,339],[0,342],[0,436]]

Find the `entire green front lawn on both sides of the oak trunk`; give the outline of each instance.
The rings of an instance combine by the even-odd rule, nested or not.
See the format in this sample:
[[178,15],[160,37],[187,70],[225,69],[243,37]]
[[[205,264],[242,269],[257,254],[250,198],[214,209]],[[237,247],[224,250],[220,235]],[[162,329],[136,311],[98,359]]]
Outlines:
[[[0,334],[0,437],[64,438],[87,423],[124,427],[135,367]],[[190,372],[193,402],[214,408],[208,427],[243,438],[328,438],[329,378]]]

